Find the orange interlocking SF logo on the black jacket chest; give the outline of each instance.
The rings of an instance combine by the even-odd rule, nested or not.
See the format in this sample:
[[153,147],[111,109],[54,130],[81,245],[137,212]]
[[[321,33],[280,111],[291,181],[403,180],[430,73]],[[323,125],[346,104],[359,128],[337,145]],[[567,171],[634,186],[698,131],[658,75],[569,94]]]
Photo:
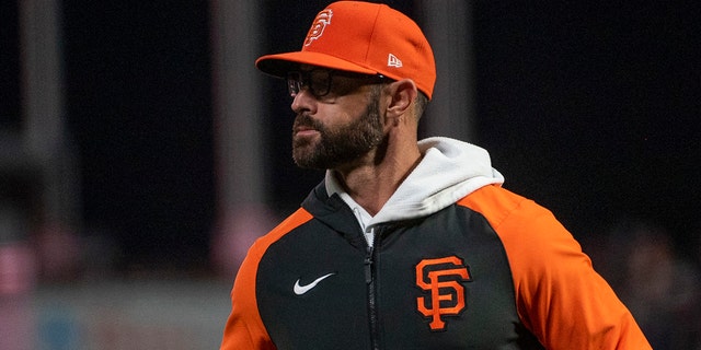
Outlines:
[[430,318],[432,330],[445,330],[443,316],[457,316],[466,308],[461,281],[470,281],[470,272],[457,256],[424,259],[416,265],[416,285],[429,295],[416,298],[416,307]]

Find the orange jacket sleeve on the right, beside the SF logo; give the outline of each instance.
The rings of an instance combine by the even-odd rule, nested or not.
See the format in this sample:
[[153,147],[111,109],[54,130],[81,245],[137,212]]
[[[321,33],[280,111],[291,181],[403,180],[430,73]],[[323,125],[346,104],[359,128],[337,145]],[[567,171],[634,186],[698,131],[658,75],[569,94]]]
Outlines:
[[501,237],[519,317],[547,349],[652,349],[628,308],[550,211],[498,186],[460,201]]

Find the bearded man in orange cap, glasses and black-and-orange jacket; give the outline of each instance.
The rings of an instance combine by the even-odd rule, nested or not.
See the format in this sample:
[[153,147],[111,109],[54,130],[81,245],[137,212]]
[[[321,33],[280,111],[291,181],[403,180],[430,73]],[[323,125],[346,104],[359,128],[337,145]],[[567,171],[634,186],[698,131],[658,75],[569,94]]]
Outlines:
[[287,78],[295,162],[326,174],[250,248],[221,349],[650,349],[486,151],[417,140],[436,73],[412,20],[335,2],[301,51],[256,66]]

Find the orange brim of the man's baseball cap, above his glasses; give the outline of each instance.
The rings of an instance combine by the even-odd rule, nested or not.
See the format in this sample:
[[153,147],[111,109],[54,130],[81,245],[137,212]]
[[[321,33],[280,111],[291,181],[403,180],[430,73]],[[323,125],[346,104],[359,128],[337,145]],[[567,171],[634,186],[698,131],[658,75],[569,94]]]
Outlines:
[[363,74],[377,73],[377,70],[368,69],[334,56],[312,51],[266,55],[255,60],[255,67],[262,72],[279,78],[286,77],[290,71],[298,70],[301,65],[324,67]]

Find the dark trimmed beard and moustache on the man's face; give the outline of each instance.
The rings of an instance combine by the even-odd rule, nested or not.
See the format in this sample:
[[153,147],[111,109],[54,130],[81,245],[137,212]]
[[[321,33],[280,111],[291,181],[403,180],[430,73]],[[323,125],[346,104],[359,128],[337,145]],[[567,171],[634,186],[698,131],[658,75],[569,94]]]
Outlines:
[[365,112],[356,120],[329,128],[307,114],[299,114],[295,127],[306,126],[318,138],[292,135],[292,159],[299,167],[329,170],[353,163],[383,142],[379,93],[374,92]]

